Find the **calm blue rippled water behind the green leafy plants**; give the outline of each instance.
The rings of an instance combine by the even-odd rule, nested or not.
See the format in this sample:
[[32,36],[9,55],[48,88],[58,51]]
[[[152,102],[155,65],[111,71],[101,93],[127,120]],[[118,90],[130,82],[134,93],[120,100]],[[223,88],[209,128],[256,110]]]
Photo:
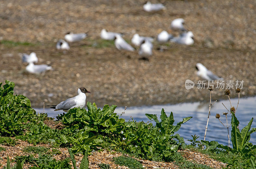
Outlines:
[[[231,99],[232,106],[237,105],[238,99]],[[225,107],[221,104],[223,103],[227,108],[230,107],[228,100],[217,101],[211,107],[211,116],[209,119],[208,129],[206,133],[206,140],[208,141],[218,141],[220,144],[228,145],[228,136],[227,129],[220,124],[219,120],[215,118],[216,113],[222,114],[222,112],[227,112]],[[256,97],[242,98],[239,101],[238,109],[236,111],[236,117],[240,122],[240,130],[248,124],[252,117],[256,115]],[[98,105],[99,106],[99,105]],[[126,121],[131,119],[131,116],[136,121],[149,121],[145,116],[145,113],[157,114],[158,119],[160,120],[161,110],[164,108],[167,116],[170,115],[170,112],[173,112],[174,124],[177,124],[179,121],[182,121],[182,118],[192,116],[193,118],[182,124],[180,130],[177,132],[180,136],[184,137],[186,144],[190,142],[187,139],[192,139],[190,134],[196,134],[200,140],[204,139],[205,126],[208,117],[209,103],[206,102],[196,102],[196,103],[183,103],[183,104],[174,104],[174,105],[154,105],[154,106],[138,106],[138,107],[127,107],[125,113],[121,116]],[[41,112],[43,109],[36,108],[36,112]],[[53,111],[53,109],[45,109],[45,112],[48,113],[49,117],[56,118],[58,114],[63,113],[62,111]],[[121,114],[124,111],[124,107],[117,107],[115,113]],[[220,116],[220,120],[225,125],[226,118],[225,115]],[[252,127],[256,127],[256,119],[252,122]],[[228,123],[230,124],[231,114],[228,114]],[[152,121],[153,122],[153,121]],[[155,124],[155,123],[153,123]],[[251,127],[251,128],[252,128]],[[229,137],[231,138],[231,127],[229,128]],[[250,142],[256,144],[256,132],[251,134]],[[232,145],[230,140],[230,145]]]

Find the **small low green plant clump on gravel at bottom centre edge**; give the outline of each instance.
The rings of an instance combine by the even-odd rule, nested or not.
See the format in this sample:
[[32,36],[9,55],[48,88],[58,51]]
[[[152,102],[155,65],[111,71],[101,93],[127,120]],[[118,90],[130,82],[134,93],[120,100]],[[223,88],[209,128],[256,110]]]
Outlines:
[[139,168],[143,168],[142,164],[132,158],[132,157],[124,157],[124,156],[119,156],[119,157],[114,157],[113,158],[114,163],[121,165],[121,166],[127,166],[130,169],[139,169]]

